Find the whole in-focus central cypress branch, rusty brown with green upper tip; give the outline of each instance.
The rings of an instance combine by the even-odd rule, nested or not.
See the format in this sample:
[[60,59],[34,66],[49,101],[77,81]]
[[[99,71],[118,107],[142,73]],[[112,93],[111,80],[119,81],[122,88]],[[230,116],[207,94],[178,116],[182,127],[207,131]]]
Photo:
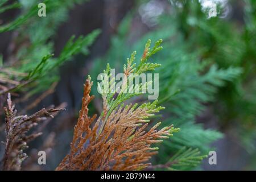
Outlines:
[[[133,63],[136,52],[127,59],[127,66],[124,65],[126,79],[122,82],[121,91],[115,98],[115,93],[109,93],[112,88],[112,79],[110,85],[110,66],[106,67],[104,73],[107,79],[103,84],[98,84],[103,99],[103,111],[100,117],[95,121],[96,115],[88,117],[88,105],[94,96],[90,96],[92,82],[90,77],[84,85],[84,97],[82,98],[82,108],[79,113],[79,119],[75,126],[73,140],[71,143],[71,152],[59,164],[56,170],[139,170],[144,169],[151,164],[149,159],[157,153],[158,148],[151,144],[162,142],[179,129],[168,126],[156,130],[160,122],[155,126],[147,127],[148,118],[158,113],[164,107],[157,107],[157,100],[152,103],[129,104],[124,106],[124,102],[133,96],[141,93],[125,93],[128,81],[134,78],[131,73],[143,73],[152,71],[160,64],[146,63],[148,58],[154,53],[160,51],[159,47],[162,39],[155,43],[150,49],[151,41],[146,43],[141,63],[138,67]],[[138,88],[143,89],[146,84],[137,84]]]

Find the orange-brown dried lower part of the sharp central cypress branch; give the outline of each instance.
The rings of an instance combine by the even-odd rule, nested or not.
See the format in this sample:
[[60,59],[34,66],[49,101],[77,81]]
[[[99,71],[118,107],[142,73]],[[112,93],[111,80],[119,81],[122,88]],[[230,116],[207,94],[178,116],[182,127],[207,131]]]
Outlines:
[[146,119],[163,109],[156,107],[155,101],[141,106],[120,106],[109,115],[99,133],[102,117],[96,122],[96,115],[88,117],[88,105],[94,98],[89,95],[91,87],[89,78],[84,85],[71,152],[56,170],[136,170],[150,166],[148,160],[158,149],[151,147],[151,144],[162,142],[161,139],[168,138],[179,129],[169,126],[156,130],[159,122],[146,130]]

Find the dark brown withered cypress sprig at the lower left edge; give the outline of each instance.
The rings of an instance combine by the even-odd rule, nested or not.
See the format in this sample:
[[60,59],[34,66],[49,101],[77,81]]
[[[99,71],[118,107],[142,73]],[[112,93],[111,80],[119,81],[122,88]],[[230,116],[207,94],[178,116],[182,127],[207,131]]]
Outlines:
[[27,154],[23,152],[26,149],[27,143],[42,135],[42,133],[33,133],[27,135],[32,127],[38,122],[44,121],[47,118],[53,118],[53,113],[64,109],[41,109],[31,116],[18,115],[11,101],[11,95],[8,94],[7,107],[4,107],[6,115],[6,141],[5,141],[5,156],[3,158],[3,170],[19,170],[22,161],[27,158]]

